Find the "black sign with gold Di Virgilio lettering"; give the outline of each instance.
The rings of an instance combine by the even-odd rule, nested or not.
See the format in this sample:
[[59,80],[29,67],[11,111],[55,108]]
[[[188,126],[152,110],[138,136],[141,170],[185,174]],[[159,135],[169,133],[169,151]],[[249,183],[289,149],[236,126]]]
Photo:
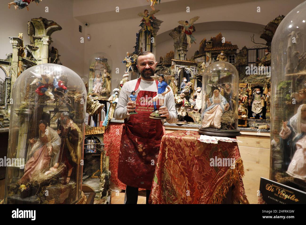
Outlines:
[[306,204],[306,192],[263,177],[260,178],[259,194],[267,204]]

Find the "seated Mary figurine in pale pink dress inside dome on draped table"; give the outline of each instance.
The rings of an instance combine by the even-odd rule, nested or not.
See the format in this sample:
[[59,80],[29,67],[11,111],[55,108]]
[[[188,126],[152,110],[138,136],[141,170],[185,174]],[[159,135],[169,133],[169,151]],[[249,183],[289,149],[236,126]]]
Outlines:
[[207,99],[204,107],[202,118],[202,127],[214,126],[217,129],[221,128],[221,117],[230,107],[226,99],[220,95],[220,91],[216,89],[213,96]]

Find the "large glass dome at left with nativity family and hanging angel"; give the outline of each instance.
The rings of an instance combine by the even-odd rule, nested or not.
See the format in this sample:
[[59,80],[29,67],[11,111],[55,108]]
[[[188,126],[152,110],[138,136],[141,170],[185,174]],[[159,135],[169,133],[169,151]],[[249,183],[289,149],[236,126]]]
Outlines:
[[26,69],[12,89],[6,168],[7,204],[80,200],[87,92],[71,69]]

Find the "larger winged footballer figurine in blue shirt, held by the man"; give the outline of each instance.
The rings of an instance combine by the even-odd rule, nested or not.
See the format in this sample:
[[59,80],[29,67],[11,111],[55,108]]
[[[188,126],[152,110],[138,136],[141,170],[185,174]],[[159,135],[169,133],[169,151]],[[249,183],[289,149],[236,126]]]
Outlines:
[[[155,76],[151,76],[151,78],[153,78],[154,80],[159,80],[159,83],[157,85],[158,90],[157,90],[157,95],[152,99],[153,101],[153,113],[150,114],[151,117],[154,118],[160,118],[160,119],[164,119],[163,117],[161,117],[158,114],[158,110],[156,105],[159,104],[160,106],[164,105],[165,102],[165,95],[171,91],[171,88],[168,85],[168,80],[169,78],[172,77],[171,75],[163,75],[163,74],[159,74],[159,75],[155,75]],[[166,88],[168,89],[166,91]]]

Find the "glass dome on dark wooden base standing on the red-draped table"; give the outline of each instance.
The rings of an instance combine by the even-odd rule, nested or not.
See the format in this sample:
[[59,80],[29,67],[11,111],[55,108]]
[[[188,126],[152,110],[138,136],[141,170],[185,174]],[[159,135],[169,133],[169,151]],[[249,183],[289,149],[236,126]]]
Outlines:
[[225,61],[211,63],[203,74],[201,134],[231,137],[238,127],[237,69]]

